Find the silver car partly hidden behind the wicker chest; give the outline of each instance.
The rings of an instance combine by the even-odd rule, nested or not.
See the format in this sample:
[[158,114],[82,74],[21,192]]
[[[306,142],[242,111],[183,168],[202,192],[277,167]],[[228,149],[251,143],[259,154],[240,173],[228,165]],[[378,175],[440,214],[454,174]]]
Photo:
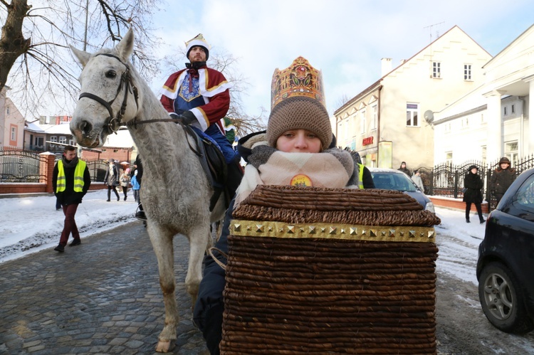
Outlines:
[[414,181],[402,171],[387,168],[369,168],[375,188],[402,191],[421,203],[424,209],[435,213],[434,203],[423,191],[419,190]]

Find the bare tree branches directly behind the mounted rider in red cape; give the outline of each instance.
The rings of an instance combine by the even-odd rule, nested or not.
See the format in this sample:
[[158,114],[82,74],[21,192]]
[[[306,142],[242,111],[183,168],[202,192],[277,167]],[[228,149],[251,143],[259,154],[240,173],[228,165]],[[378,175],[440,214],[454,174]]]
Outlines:
[[[169,74],[183,69],[184,63],[189,61],[186,58],[185,48],[179,48],[176,54],[172,55],[172,58],[172,60],[170,58],[165,60]],[[263,123],[266,117],[266,110],[263,107],[261,113],[257,116],[251,116],[246,113],[243,97],[247,95],[247,89],[250,84],[243,73],[239,71],[239,60],[226,51],[218,51],[216,48],[211,48],[207,64],[209,68],[223,73],[226,80],[232,84],[230,89],[230,109],[226,117],[234,123],[236,136],[243,137],[248,133],[266,129],[266,124]]]

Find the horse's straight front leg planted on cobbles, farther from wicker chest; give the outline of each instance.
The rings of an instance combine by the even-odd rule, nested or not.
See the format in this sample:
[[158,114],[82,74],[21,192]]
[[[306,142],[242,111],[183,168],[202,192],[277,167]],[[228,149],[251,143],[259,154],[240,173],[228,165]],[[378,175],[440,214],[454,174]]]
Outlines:
[[150,219],[147,221],[147,231],[157,257],[159,286],[162,289],[165,306],[165,325],[162,332],[159,333],[156,351],[166,353],[174,347],[176,327],[179,320],[176,297],[174,296],[174,288],[176,287],[174,250],[172,248],[174,235],[166,228],[156,226]]

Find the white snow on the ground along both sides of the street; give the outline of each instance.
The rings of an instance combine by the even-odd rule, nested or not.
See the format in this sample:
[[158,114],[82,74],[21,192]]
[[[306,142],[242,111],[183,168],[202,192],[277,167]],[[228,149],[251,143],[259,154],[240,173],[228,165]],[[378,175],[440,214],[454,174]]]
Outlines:
[[[120,201],[112,196],[112,201],[107,202],[107,194],[107,190],[89,191],[78,206],[75,220],[82,240],[136,221],[137,203],[131,191],[127,201],[122,201],[121,193]],[[472,223],[466,223],[464,211],[438,207],[436,214],[441,218],[441,225],[436,226],[437,270],[477,284],[478,244],[486,224],[479,224],[476,215],[471,216]],[[53,195],[0,198],[0,216],[0,263],[46,248],[52,252],[63,230],[63,211],[56,211]]]

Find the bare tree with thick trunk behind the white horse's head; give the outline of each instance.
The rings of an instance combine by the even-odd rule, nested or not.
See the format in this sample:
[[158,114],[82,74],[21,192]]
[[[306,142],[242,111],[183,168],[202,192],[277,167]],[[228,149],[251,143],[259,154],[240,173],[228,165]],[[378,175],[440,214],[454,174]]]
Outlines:
[[[87,51],[111,47],[127,28],[137,36],[132,61],[145,78],[157,72],[150,53],[159,39],[152,36],[152,14],[159,0],[0,0],[0,90],[10,96],[23,115],[56,105],[70,112],[79,92],[79,68],[68,49]],[[151,50],[148,50],[150,48]],[[51,102],[52,101],[52,102]],[[64,113],[62,112],[62,113]]]

